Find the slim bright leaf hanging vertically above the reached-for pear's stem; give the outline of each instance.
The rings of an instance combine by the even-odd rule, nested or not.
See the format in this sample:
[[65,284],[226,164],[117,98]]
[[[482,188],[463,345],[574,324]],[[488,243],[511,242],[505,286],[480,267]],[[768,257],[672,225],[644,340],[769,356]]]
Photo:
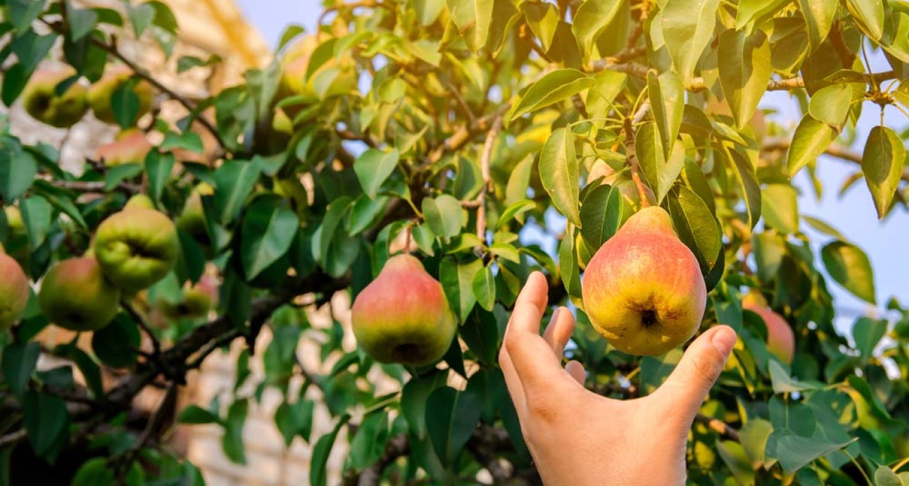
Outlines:
[[[654,112],[654,122],[663,145],[663,157],[672,159],[675,139],[682,127],[682,114],[684,113],[682,78],[672,71],[666,71],[659,77],[653,71],[649,71],[647,73],[647,91],[650,96],[651,110]],[[634,141],[636,148],[636,137]],[[659,199],[662,199],[662,196]]]

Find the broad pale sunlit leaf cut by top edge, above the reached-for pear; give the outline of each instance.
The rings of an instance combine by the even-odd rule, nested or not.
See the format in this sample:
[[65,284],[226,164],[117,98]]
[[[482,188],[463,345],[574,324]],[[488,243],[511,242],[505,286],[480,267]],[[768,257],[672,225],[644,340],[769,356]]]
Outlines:
[[694,77],[698,59],[714,36],[720,0],[667,0],[660,15],[666,49],[682,81]]

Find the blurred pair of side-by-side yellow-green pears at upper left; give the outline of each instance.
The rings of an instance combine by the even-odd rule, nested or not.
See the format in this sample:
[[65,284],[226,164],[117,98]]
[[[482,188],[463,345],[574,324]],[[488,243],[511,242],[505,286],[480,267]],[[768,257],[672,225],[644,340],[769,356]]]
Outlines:
[[[86,87],[79,82],[75,69],[70,66],[41,67],[25,85],[23,106],[35,120],[57,128],[68,128],[78,123],[89,108],[98,120],[115,124],[111,98],[121,86],[130,82],[132,76],[129,67],[113,64],[105,69],[101,79]],[[139,99],[137,116],[148,113],[155,96],[152,85],[140,81],[132,86],[132,90]]]

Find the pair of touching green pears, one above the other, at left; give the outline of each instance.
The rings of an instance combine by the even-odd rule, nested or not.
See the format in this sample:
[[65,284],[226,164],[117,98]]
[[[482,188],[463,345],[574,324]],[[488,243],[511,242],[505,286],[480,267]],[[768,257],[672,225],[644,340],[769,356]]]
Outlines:
[[41,311],[70,331],[101,329],[114,320],[121,295],[163,279],[179,252],[175,224],[147,196],[134,196],[98,225],[89,252],[47,271],[38,293]]

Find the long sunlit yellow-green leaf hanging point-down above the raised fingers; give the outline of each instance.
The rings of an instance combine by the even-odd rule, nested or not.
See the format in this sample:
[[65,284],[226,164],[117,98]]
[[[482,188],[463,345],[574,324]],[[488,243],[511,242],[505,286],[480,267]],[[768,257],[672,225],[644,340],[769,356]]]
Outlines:
[[540,154],[540,179],[546,193],[552,198],[555,209],[580,227],[580,176],[574,154],[574,137],[567,128],[555,129],[546,140]]

